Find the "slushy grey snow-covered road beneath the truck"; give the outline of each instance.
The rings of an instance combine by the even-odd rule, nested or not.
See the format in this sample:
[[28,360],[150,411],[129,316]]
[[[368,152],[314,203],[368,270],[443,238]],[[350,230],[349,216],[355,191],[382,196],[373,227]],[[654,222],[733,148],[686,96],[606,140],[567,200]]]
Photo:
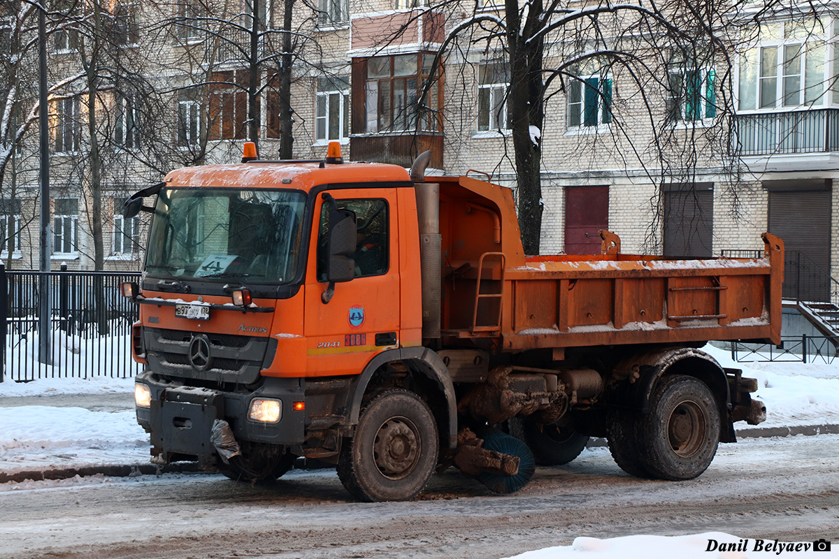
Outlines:
[[839,436],[722,445],[682,483],[629,478],[594,448],[508,496],[450,469],[420,500],[358,504],[321,470],[256,488],[209,474],[3,484],[0,507],[3,557],[489,558],[576,536],[705,531],[836,541]]

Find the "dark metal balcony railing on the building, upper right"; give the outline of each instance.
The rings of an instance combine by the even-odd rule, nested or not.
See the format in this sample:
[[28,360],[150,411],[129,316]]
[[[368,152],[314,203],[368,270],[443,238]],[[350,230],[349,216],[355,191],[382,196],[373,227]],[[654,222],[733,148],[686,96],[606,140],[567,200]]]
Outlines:
[[737,115],[741,156],[839,151],[839,109]]

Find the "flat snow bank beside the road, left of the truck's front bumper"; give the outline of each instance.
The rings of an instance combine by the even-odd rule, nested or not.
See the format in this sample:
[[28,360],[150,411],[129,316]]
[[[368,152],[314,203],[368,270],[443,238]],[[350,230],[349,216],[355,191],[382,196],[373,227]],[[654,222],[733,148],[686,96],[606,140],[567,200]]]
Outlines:
[[149,435],[134,411],[0,407],[0,425],[0,472],[5,474],[149,463]]

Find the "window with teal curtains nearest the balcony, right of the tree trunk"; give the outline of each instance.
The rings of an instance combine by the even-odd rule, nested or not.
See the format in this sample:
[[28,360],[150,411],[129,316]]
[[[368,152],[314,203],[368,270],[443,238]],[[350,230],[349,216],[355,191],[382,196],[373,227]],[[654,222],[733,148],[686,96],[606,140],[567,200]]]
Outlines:
[[717,72],[675,65],[668,72],[667,112],[671,121],[699,121],[717,116]]

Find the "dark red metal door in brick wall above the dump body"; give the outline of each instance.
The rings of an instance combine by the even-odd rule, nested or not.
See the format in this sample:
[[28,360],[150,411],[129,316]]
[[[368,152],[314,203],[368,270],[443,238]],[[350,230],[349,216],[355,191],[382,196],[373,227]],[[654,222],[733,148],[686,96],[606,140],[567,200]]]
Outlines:
[[608,227],[608,186],[565,188],[565,254],[600,254],[597,231]]

